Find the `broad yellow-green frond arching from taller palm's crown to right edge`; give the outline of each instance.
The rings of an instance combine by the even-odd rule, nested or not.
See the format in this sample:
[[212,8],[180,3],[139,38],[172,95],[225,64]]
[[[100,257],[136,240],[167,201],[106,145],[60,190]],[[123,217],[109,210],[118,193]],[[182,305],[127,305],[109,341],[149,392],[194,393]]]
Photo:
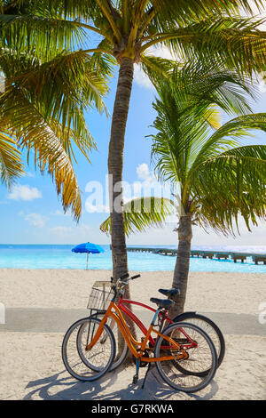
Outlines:
[[212,60],[221,62],[249,76],[265,68],[266,36],[258,27],[263,20],[223,17],[219,14],[194,20],[185,27],[164,28],[148,36],[142,51],[163,44],[179,60]]

